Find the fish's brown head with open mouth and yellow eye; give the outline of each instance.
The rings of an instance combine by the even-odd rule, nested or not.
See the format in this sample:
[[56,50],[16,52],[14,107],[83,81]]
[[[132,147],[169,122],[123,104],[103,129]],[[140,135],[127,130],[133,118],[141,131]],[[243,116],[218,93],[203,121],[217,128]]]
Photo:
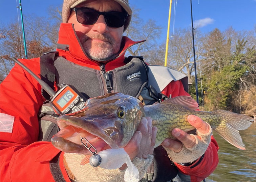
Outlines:
[[80,145],[81,137],[86,138],[98,151],[123,148],[143,116],[143,104],[135,97],[110,93],[90,98],[85,103],[85,109],[58,118],[61,130],[51,142],[56,148],[70,153],[87,151]]

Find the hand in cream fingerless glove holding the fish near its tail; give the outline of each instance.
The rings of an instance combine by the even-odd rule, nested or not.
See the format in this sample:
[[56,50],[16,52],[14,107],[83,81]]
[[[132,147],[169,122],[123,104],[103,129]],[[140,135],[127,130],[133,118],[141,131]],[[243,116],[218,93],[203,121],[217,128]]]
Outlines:
[[[194,115],[188,116],[188,122],[196,128],[198,135],[188,134],[181,129],[175,128],[172,130],[172,135],[179,141],[165,139],[161,144],[164,148],[166,148],[172,160],[176,160],[175,162],[192,162],[193,160],[196,160],[198,157],[204,154],[211,141],[212,129],[208,123],[202,121],[199,117]],[[198,148],[200,150],[198,150]],[[186,151],[184,151],[185,149]],[[191,156],[189,156],[189,154],[187,155],[186,152],[190,153]],[[179,153],[180,155],[186,154],[186,156],[176,156],[176,154],[178,155]],[[176,157],[178,158],[176,159]]]

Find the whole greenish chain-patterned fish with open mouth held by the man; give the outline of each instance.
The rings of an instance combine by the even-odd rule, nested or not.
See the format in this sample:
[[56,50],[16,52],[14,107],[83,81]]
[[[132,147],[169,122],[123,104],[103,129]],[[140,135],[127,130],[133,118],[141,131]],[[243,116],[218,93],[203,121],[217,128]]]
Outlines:
[[174,128],[188,133],[195,130],[187,120],[192,114],[209,123],[230,144],[245,149],[239,130],[247,129],[253,118],[224,110],[206,112],[198,109],[198,103],[190,96],[143,105],[135,97],[109,93],[88,99],[81,111],[60,116],[57,121],[60,131],[51,138],[51,143],[63,152],[85,155],[91,152],[81,143],[81,138],[86,138],[97,151],[123,148],[131,140],[142,117],[148,116],[152,118],[152,125],[158,128],[156,148],[166,138],[175,139],[171,134]]

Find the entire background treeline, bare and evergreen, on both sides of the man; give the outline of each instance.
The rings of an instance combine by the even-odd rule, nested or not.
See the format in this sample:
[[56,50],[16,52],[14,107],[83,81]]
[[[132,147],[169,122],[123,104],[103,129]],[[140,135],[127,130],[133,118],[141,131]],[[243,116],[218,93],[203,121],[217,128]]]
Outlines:
[[[61,7],[49,7],[48,17],[24,17],[28,58],[55,50],[61,22]],[[162,27],[154,20],[143,21],[133,8],[130,26],[124,33],[133,40],[147,39],[127,51],[142,55],[149,64],[164,65],[165,42],[159,43]],[[43,23],[42,23],[43,22]],[[171,33],[172,34],[172,33]],[[188,75],[195,97],[194,60],[191,28],[175,29],[169,41],[168,66]],[[256,27],[250,31],[194,31],[199,104],[201,110],[228,110],[256,117]],[[164,35],[165,36],[165,35]],[[14,66],[12,58],[24,58],[18,22],[0,27],[0,80]],[[0,82],[1,82],[0,81]]]

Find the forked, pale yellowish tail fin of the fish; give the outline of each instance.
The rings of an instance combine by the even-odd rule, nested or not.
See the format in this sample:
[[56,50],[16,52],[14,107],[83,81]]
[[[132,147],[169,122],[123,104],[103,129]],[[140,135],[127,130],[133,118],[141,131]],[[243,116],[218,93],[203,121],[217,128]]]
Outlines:
[[219,120],[216,126],[212,128],[222,136],[226,141],[235,147],[245,150],[239,130],[247,129],[253,121],[253,118],[237,113],[218,110],[212,112],[217,115]]

